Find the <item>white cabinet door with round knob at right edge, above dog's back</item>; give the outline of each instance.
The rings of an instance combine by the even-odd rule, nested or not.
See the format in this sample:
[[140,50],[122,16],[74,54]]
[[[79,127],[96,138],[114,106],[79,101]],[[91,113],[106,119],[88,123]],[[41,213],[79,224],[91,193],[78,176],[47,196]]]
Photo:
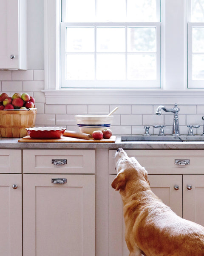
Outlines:
[[204,226],[204,175],[184,175],[183,180],[183,218]]

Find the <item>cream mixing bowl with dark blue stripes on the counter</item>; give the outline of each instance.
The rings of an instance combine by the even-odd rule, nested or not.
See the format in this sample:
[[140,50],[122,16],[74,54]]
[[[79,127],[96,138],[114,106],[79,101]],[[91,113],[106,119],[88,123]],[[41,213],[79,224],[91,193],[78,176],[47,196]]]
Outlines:
[[77,115],[75,116],[80,132],[91,134],[110,128],[113,116],[106,115]]

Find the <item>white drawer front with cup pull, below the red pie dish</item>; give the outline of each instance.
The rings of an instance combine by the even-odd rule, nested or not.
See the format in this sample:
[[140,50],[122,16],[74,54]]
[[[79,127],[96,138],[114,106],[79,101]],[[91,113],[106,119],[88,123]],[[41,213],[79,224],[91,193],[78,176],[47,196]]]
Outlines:
[[24,173],[95,173],[95,150],[24,150]]

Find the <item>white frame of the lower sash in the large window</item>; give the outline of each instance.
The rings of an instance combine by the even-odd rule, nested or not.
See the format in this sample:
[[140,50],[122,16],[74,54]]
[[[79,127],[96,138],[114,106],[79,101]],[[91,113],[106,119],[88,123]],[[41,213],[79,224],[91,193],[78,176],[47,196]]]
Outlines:
[[[97,27],[123,27],[127,33],[127,27],[145,27],[145,28],[155,28],[156,29],[156,38],[161,38],[161,27],[160,22],[127,22],[127,23],[62,23],[61,25],[61,60],[62,67],[65,67],[65,30],[67,27],[94,27],[94,32],[96,34]],[[65,70],[62,70],[61,82],[62,88],[160,88],[161,87],[161,44],[160,40],[156,40],[156,52],[144,52],[144,54],[156,54],[156,79],[155,80],[65,80]],[[143,53],[143,52],[142,52]],[[94,52],[96,55],[96,51]],[[127,61],[127,51],[123,52]],[[134,54],[134,53],[133,53]],[[137,86],[136,86],[137,85]]]

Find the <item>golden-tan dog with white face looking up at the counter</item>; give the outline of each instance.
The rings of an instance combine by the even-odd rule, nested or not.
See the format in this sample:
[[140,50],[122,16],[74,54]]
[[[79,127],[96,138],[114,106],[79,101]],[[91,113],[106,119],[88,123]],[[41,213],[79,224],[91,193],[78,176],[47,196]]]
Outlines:
[[151,191],[147,171],[122,148],[115,154],[129,256],[204,256],[204,227],[174,213]]

